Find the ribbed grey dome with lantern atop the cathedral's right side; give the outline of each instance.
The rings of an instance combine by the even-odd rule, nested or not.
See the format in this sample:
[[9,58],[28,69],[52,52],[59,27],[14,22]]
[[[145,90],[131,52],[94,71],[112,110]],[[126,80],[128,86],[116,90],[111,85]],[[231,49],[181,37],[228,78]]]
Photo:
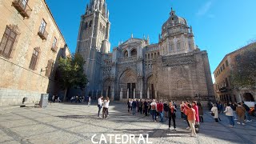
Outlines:
[[175,11],[173,9],[171,9],[170,18],[168,18],[168,20],[162,25],[162,31],[166,30],[166,28],[168,28],[168,27],[177,26],[179,24],[187,26],[186,19],[178,17],[175,14]]

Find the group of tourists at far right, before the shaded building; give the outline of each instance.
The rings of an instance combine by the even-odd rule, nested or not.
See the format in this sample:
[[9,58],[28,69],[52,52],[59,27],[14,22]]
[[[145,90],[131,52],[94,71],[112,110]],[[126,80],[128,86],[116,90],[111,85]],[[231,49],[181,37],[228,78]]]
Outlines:
[[219,115],[224,113],[229,119],[230,127],[234,127],[234,121],[238,120],[237,124],[246,125],[245,122],[251,122],[250,118],[250,107],[245,102],[238,103],[222,103],[216,102],[212,104],[211,108],[212,115],[214,116],[215,122],[221,121]]

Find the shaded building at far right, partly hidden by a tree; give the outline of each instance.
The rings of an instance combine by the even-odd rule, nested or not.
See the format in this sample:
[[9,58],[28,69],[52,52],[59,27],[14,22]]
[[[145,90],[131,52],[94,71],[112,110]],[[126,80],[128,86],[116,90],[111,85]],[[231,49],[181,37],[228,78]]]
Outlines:
[[256,91],[247,88],[235,89],[231,81],[231,70],[235,66],[235,58],[241,54],[244,50],[255,48],[256,42],[251,43],[248,46],[244,46],[241,49],[235,50],[222,59],[222,62],[218,64],[218,67],[214,70],[215,78],[215,93],[217,94],[218,101],[221,102],[255,102]]

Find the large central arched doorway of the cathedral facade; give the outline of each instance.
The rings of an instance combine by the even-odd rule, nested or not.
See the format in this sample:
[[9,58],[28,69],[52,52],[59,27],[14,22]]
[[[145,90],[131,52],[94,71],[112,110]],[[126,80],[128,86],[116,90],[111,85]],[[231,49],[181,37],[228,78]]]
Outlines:
[[133,70],[124,71],[119,78],[118,92],[122,89],[122,98],[134,98],[134,89],[136,90],[137,78]]

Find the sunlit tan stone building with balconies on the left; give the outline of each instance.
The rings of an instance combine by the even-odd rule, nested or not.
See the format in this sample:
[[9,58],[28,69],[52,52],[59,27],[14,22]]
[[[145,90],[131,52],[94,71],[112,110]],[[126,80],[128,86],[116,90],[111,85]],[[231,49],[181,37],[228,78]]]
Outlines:
[[0,0],[0,105],[57,94],[58,58],[70,55],[45,0]]

